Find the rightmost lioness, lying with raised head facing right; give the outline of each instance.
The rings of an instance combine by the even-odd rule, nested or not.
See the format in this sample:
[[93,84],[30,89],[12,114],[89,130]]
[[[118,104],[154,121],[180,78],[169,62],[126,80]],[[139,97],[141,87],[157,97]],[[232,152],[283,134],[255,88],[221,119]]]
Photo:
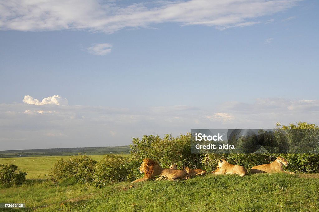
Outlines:
[[295,172],[286,172],[283,170],[282,165],[288,166],[288,162],[283,157],[277,157],[271,164],[263,164],[258,166],[253,166],[250,173],[274,173],[274,172],[285,172],[288,174],[295,174]]

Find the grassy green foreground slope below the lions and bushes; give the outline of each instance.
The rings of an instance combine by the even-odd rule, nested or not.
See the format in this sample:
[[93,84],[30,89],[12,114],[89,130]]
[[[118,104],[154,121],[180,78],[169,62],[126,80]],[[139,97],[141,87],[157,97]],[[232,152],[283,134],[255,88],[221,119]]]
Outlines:
[[17,211],[319,210],[319,174],[208,175],[130,185],[95,189],[89,184],[53,186],[48,180],[27,180],[20,187],[0,189],[0,200],[26,204]]

